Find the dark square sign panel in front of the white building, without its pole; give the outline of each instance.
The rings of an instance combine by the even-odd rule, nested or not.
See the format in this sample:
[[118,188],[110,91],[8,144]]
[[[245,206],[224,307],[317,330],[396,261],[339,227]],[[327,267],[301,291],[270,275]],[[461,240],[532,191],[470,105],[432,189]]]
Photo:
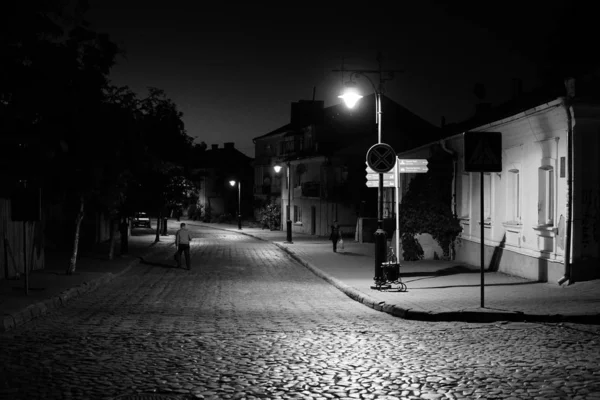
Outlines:
[[466,172],[502,172],[502,132],[465,132]]

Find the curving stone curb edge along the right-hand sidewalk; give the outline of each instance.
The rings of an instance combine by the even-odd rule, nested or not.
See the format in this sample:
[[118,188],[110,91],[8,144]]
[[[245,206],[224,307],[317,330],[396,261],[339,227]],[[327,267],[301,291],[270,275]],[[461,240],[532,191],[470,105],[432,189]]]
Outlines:
[[222,231],[237,232],[242,235],[250,236],[264,242],[271,242],[275,246],[279,247],[287,254],[289,254],[294,260],[299,262],[304,267],[308,268],[318,277],[324,279],[328,283],[332,284],[351,299],[371,307],[374,310],[382,311],[395,317],[404,319],[417,320],[417,321],[431,321],[431,322],[548,322],[548,323],[560,323],[560,322],[574,322],[574,323],[586,323],[586,324],[598,324],[600,325],[600,314],[577,314],[577,315],[563,315],[563,314],[525,314],[516,312],[478,312],[478,311],[450,311],[450,312],[427,312],[417,311],[411,309],[405,309],[398,307],[394,304],[386,304],[381,301],[372,299],[368,295],[359,292],[351,286],[335,279],[334,277],[327,275],[325,272],[312,265],[311,263],[303,260],[300,256],[294,253],[289,248],[282,246],[279,243],[273,242],[268,239],[261,238],[259,236],[252,235],[251,233],[235,230],[232,228],[222,228],[211,226],[203,223],[196,223],[196,225],[206,226],[212,229],[218,229]]

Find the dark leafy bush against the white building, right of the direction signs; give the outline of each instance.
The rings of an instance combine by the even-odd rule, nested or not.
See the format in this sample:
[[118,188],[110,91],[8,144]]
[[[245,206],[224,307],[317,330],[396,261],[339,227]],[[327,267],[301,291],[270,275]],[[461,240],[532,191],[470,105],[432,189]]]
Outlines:
[[[418,174],[411,182],[400,205],[400,227],[405,259],[422,258],[422,248],[415,235],[429,233],[442,248],[445,259],[450,256],[458,234],[459,220],[452,213],[452,162],[446,153],[429,160],[429,172]],[[404,240],[406,239],[406,243]]]

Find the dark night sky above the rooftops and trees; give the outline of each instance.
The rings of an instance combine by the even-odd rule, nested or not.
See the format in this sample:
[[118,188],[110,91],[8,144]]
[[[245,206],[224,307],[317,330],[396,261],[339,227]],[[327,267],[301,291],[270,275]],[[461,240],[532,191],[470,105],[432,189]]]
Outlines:
[[332,69],[342,60],[376,69],[378,51],[384,69],[403,70],[385,93],[436,126],[442,116],[472,116],[477,82],[493,104],[510,99],[513,78],[528,91],[539,84],[540,54],[564,25],[564,3],[91,0],[86,16],[125,50],[114,84],[140,96],[148,86],[164,89],[190,136],[209,146],[235,142],[253,157],[252,138],[289,123],[291,102],[312,99],[316,87],[326,107],[338,103],[343,79]]

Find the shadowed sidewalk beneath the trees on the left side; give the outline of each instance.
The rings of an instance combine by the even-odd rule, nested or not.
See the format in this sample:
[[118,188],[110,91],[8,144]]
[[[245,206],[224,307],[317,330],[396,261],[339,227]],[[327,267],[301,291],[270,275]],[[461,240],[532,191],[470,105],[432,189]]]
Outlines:
[[[169,233],[173,234],[176,224],[176,221],[169,221]],[[161,236],[161,242],[156,244],[154,239],[155,233],[150,233],[150,230],[136,229],[129,238],[127,255],[120,256],[120,240],[117,239],[112,261],[108,261],[107,243],[93,250],[80,251],[73,275],[65,275],[70,253],[46,251],[45,268],[32,271],[28,277],[28,294],[23,275],[17,280],[0,280],[0,332],[22,325],[97,289],[137,265],[140,257],[172,245],[174,241],[173,236]]]

